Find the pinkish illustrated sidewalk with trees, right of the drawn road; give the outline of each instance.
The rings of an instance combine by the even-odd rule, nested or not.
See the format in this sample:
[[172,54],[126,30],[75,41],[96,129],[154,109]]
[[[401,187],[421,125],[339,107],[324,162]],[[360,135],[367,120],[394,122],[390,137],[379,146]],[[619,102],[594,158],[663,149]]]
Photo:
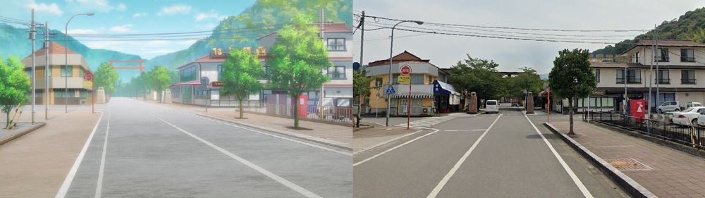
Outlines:
[[[215,110],[215,109],[214,109]],[[237,119],[239,111],[222,111],[221,109],[200,113],[204,116],[226,120],[231,123],[240,123],[253,128],[278,132],[284,135],[300,137],[333,147],[352,150],[353,128],[342,125],[331,125],[326,123],[310,122],[299,120],[299,127],[306,130],[292,129],[294,120],[291,118],[281,118],[276,116],[265,116],[258,113],[244,113],[245,119]]]

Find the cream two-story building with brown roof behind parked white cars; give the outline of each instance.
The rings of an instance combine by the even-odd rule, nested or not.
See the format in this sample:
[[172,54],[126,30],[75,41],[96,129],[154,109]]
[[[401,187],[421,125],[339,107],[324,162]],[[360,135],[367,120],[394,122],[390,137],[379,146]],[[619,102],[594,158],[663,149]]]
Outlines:
[[705,80],[697,79],[705,78],[704,62],[705,44],[683,40],[659,40],[656,43],[639,40],[618,56],[591,58],[597,89],[589,100],[580,99],[577,107],[579,111],[588,106],[597,111],[621,111],[625,90],[629,99],[650,99],[652,111],[664,101],[702,103],[705,101]]

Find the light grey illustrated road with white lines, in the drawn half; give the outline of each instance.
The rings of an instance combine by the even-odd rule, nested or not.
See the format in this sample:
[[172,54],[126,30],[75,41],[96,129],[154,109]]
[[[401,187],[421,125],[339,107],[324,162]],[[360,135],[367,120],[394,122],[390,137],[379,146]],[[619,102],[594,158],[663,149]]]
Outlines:
[[135,99],[102,111],[59,197],[353,197],[350,151]]

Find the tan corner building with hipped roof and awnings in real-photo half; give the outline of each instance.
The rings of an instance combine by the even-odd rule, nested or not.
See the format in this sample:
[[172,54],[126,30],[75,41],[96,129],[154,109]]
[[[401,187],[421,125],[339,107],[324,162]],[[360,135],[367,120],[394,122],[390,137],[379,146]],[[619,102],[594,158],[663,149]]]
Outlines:
[[[411,86],[400,85],[398,77],[401,66],[410,66]],[[448,73],[430,63],[429,59],[422,59],[414,54],[404,51],[392,57],[392,82],[389,82],[389,59],[370,62],[364,68],[370,82],[367,113],[387,111],[387,99],[391,99],[390,115],[406,115],[409,96],[411,96],[412,116],[434,115],[439,107],[457,106],[460,103],[460,93],[455,92],[453,86],[444,83]],[[437,80],[437,82],[436,82]],[[434,83],[435,82],[435,83]],[[386,94],[388,85],[392,85],[395,93]],[[435,85],[434,85],[435,84]],[[411,87],[411,90],[409,90]],[[437,88],[437,89],[436,89]]]

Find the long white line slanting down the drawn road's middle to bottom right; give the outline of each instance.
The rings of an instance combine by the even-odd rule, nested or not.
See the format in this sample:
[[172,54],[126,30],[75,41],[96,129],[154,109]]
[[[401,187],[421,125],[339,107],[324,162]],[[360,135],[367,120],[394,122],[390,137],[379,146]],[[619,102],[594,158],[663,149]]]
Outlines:
[[[200,141],[200,142],[203,142],[203,144],[206,144],[206,145],[208,145],[209,147],[212,147],[213,149],[216,149],[217,151],[220,151],[221,153],[226,154],[227,156],[230,156],[232,159],[235,159],[236,161],[239,161],[240,163],[243,163],[243,164],[245,164],[246,166],[249,166],[250,168],[255,169],[255,171],[266,175],[267,177],[271,178],[272,180],[276,180],[277,182],[281,183],[282,185],[285,185],[286,187],[289,187],[291,190],[295,190],[296,192],[299,192],[300,194],[302,194],[302,195],[304,195],[304,196],[306,196],[306,197],[321,197],[321,196],[319,196],[318,194],[315,194],[315,193],[313,193],[313,192],[311,192],[311,191],[309,191],[309,190],[306,190],[305,188],[300,187],[299,185],[296,185],[295,183],[290,182],[289,180],[286,180],[285,178],[280,177],[279,175],[276,175],[276,174],[274,174],[274,173],[272,173],[272,172],[270,172],[270,171],[267,171],[266,169],[264,169],[264,168],[262,168],[262,167],[257,166],[255,163],[252,163],[252,162],[250,162],[250,161],[247,161],[246,159],[243,159],[243,158],[241,158],[240,156],[237,156],[237,155],[231,153],[230,151],[227,151],[226,149],[223,149],[223,148],[221,148],[221,147],[216,146],[216,144],[213,144],[213,143],[211,143],[211,142],[208,142],[207,140],[204,140],[204,139],[201,138],[201,137],[198,137],[198,136],[196,136],[196,135],[193,135],[193,134],[191,134],[190,132],[188,132],[188,131],[186,131],[186,130],[183,130],[183,129],[177,127],[176,125],[173,125],[172,123],[167,122],[167,121],[164,120],[164,119],[161,119],[161,118],[157,118],[157,119],[161,120],[162,122],[164,122],[164,123],[166,123],[166,124],[168,124],[168,125],[171,125],[173,128],[176,128],[176,129],[179,130],[180,132],[183,132],[183,133],[185,133],[186,135],[189,135],[189,136],[193,137],[194,139],[196,139],[196,140],[198,140],[198,141]],[[321,197],[321,198],[322,198],[322,197]]]

